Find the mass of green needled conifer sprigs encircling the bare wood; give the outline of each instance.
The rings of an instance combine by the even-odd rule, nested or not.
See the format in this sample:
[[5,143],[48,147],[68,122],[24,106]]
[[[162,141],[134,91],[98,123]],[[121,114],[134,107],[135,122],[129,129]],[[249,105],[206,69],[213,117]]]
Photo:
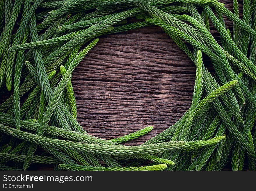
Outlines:
[[[13,89],[0,105],[0,169],[37,163],[63,170],[221,170],[231,163],[233,170],[255,170],[255,3],[243,1],[240,19],[237,0],[234,13],[216,0],[0,0],[0,92]],[[234,23],[232,35],[224,15]],[[129,17],[142,21],[127,23]],[[152,126],[112,140],[89,135],[76,120],[72,72],[100,35],[150,25],[196,66],[191,107],[141,145],[121,143]]]

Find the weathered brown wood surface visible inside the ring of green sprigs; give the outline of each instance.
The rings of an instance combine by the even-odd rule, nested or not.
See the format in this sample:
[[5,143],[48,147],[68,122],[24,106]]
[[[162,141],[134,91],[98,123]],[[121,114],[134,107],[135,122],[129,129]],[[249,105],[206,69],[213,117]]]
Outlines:
[[90,134],[117,138],[174,124],[189,108],[195,66],[161,28],[106,35],[73,72],[77,120]]

